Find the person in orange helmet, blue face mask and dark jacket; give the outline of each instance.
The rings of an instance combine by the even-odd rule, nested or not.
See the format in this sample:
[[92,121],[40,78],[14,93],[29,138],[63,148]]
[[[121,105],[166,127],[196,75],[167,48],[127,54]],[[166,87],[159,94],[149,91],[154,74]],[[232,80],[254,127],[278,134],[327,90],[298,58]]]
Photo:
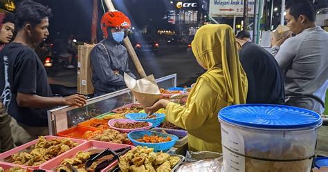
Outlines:
[[106,12],[101,19],[104,39],[91,50],[92,82],[95,96],[125,88],[123,73],[136,78],[128,67],[127,48],[120,44],[131,21],[120,11]]

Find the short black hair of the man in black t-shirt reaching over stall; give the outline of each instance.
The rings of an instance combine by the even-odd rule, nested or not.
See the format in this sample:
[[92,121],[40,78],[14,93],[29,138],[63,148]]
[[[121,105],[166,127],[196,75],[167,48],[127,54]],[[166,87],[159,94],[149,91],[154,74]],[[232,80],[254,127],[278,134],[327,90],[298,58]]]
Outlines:
[[21,1],[15,11],[15,26],[18,29],[23,28],[26,23],[35,26],[41,23],[42,19],[51,16],[51,9],[41,3],[30,0]]

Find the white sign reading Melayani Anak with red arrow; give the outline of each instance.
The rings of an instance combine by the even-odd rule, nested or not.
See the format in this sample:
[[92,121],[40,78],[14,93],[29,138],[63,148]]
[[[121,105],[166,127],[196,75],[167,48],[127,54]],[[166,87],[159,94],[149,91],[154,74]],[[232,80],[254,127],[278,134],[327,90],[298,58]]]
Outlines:
[[[254,14],[255,0],[248,0],[248,15]],[[244,0],[210,0],[210,16],[238,16],[244,15]]]

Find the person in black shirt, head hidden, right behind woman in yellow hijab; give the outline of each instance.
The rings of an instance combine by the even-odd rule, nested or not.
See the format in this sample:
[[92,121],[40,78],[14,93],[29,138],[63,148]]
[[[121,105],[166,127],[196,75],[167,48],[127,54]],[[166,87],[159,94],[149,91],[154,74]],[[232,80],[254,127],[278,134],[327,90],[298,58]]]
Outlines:
[[242,46],[239,60],[248,79],[247,104],[284,104],[284,82],[275,58],[253,42],[236,39]]

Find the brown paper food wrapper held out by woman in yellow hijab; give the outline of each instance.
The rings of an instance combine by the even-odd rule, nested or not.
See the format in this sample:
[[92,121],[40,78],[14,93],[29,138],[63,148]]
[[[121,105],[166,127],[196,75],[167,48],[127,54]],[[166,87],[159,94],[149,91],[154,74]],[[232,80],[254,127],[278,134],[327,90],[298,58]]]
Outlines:
[[161,98],[161,92],[153,75],[136,80],[127,73],[124,73],[124,80],[127,88],[131,90],[143,108],[152,106]]

